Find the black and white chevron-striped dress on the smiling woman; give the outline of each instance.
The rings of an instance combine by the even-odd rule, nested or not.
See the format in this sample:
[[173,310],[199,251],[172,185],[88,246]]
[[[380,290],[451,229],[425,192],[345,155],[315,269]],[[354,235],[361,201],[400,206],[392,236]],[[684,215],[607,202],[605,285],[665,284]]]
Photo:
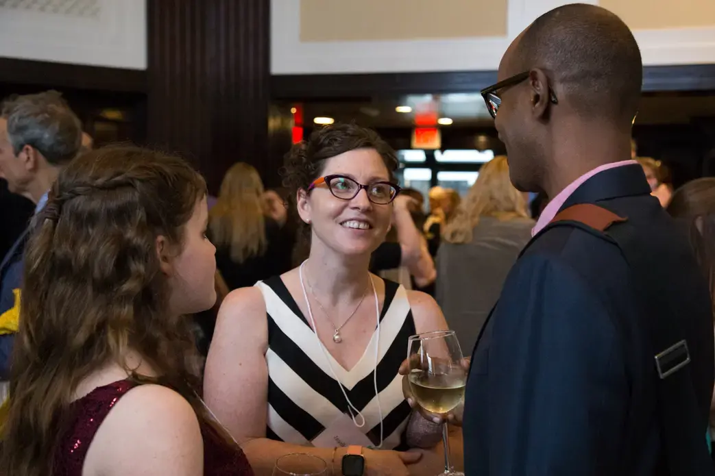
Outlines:
[[[375,399],[375,345],[373,332],[365,353],[349,372],[320,346],[305,316],[279,276],[256,284],[266,303],[268,321],[268,415],[266,436],[296,445],[310,441],[342,413],[347,402],[327,359],[345,387],[352,405],[365,417],[364,432],[380,443],[380,417]],[[403,398],[400,364],[407,355],[408,337],[415,323],[405,288],[385,281],[385,302],[380,314],[378,395],[383,413],[383,449],[405,450],[405,428],[410,406]]]

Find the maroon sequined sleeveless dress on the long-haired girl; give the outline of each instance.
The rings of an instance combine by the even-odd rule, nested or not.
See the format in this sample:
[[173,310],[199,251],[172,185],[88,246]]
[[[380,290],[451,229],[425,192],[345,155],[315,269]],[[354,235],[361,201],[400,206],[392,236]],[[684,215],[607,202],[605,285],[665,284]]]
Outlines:
[[[53,476],[82,476],[84,457],[99,425],[117,400],[136,385],[129,380],[120,380],[97,387],[72,403],[73,420],[55,454]],[[204,438],[204,476],[253,476],[253,470],[241,450],[223,442],[208,425],[201,425],[201,434]]]

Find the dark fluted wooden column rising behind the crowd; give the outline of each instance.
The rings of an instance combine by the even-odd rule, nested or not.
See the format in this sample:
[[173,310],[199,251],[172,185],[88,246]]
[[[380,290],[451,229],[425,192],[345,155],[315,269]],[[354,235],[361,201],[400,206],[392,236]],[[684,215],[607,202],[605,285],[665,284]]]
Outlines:
[[217,192],[234,162],[275,183],[268,154],[270,0],[149,0],[148,142]]

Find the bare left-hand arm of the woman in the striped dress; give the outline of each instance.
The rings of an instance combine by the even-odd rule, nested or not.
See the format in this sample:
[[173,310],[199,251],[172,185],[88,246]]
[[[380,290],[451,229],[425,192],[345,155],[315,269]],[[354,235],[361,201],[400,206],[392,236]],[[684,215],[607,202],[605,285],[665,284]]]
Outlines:
[[[217,318],[204,375],[204,399],[239,442],[256,476],[271,475],[275,460],[290,453],[320,457],[340,467],[345,449],[304,447],[265,437],[268,367],[265,302],[257,287],[237,289],[225,299]],[[368,474],[406,475],[405,463],[420,455],[366,450]]]

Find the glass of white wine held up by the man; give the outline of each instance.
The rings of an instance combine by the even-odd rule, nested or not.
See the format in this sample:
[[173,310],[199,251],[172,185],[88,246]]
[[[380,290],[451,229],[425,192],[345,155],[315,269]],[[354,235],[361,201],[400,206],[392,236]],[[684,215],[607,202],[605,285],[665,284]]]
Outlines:
[[445,445],[445,472],[440,476],[464,476],[450,461],[449,427],[446,415],[464,397],[467,371],[454,331],[425,332],[408,341],[410,373],[408,381],[415,402],[429,412],[445,416],[442,440]]

